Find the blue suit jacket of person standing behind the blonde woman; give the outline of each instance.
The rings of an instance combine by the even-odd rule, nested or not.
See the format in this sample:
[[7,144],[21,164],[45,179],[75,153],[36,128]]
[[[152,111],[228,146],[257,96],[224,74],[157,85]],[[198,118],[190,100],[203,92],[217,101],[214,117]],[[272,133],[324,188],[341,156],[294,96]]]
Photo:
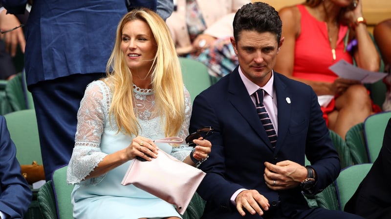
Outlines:
[[[23,14],[27,0],[2,0]],[[35,0],[26,28],[27,85],[78,73],[105,73],[125,0]]]

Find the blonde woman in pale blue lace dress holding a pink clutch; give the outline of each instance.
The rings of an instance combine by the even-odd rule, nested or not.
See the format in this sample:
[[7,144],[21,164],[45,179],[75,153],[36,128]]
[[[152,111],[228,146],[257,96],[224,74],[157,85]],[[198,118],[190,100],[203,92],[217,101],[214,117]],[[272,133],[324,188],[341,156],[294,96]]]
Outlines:
[[[165,22],[149,9],[135,9],[117,28],[107,78],[90,83],[78,111],[75,147],[67,182],[73,216],[79,218],[167,218],[181,216],[173,205],[121,181],[133,159],[171,153],[183,162],[206,159],[207,140],[186,145],[153,140],[188,133],[190,94]],[[192,151],[192,152],[191,152]],[[192,158],[190,157],[192,156]]]

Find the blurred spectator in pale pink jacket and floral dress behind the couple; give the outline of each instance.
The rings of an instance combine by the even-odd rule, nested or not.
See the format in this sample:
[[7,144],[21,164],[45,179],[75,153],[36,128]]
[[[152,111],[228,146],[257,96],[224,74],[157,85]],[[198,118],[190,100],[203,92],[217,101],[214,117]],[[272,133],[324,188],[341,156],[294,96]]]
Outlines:
[[167,25],[176,52],[201,61],[212,76],[221,77],[237,65],[229,37],[236,11],[250,0],[175,0]]

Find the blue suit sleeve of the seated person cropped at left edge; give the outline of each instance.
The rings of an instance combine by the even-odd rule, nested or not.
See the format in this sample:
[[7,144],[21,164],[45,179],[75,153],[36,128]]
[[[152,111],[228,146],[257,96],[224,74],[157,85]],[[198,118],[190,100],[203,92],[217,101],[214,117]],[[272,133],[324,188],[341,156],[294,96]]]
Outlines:
[[21,174],[16,147],[6,122],[0,116],[0,210],[11,219],[23,218],[32,198],[31,189]]

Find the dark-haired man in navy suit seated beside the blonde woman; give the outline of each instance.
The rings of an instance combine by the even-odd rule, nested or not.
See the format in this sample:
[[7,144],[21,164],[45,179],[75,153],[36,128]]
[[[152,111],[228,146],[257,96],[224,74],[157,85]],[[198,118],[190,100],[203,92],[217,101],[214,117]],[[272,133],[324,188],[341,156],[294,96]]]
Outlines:
[[[233,27],[239,66],[195,98],[190,121],[190,132],[215,130],[208,137],[212,152],[200,165],[207,173],[197,190],[207,201],[202,219],[360,218],[311,209],[304,199],[302,192],[319,193],[341,167],[315,92],[273,71],[284,40],[278,12],[249,3],[238,10]],[[256,110],[259,89],[275,145]],[[304,166],[304,155],[310,166]]]

